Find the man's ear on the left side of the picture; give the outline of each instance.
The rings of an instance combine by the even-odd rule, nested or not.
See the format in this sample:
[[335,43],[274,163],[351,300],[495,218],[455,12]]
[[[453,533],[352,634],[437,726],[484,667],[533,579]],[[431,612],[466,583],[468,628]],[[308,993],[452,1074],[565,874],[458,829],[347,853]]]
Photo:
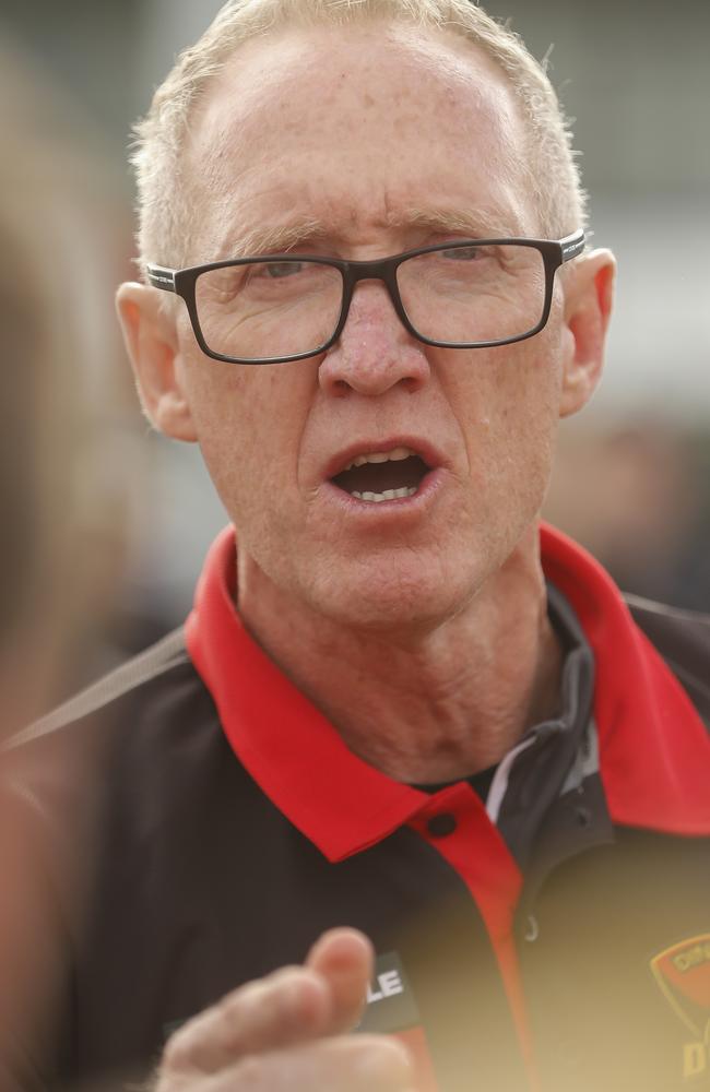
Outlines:
[[175,440],[197,440],[180,370],[175,316],[162,293],[128,282],[116,295],[116,308],[126,348],[145,414],[161,432]]

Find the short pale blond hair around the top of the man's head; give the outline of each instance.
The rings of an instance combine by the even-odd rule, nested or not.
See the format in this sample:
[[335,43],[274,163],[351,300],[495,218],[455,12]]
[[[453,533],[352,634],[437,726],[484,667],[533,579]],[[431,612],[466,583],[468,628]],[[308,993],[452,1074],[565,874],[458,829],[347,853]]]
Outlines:
[[141,264],[194,261],[182,150],[192,110],[238,46],[284,25],[347,26],[377,17],[453,31],[483,49],[507,74],[525,120],[524,153],[542,233],[559,238],[584,225],[585,197],[569,126],[544,66],[518,35],[470,0],[229,0],[180,55],[135,127]]

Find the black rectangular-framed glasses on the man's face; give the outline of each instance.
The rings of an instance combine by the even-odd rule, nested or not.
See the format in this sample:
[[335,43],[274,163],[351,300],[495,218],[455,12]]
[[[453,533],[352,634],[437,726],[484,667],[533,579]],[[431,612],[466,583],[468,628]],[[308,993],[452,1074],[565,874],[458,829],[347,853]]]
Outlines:
[[355,286],[381,281],[409,332],[425,345],[487,348],[539,333],[555,272],[584,249],[584,232],[548,239],[470,239],[371,262],[267,254],[170,270],[150,284],[181,296],[203,353],[234,364],[282,364],[340,337]]

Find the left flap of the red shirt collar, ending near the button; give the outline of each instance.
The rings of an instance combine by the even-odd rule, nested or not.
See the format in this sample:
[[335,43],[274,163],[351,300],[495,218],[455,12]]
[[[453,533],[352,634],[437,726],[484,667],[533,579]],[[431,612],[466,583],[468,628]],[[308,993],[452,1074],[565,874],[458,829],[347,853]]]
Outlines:
[[381,841],[429,803],[347,749],[249,636],[234,605],[232,527],[213,544],[186,627],[225,734],[267,796],[330,860]]

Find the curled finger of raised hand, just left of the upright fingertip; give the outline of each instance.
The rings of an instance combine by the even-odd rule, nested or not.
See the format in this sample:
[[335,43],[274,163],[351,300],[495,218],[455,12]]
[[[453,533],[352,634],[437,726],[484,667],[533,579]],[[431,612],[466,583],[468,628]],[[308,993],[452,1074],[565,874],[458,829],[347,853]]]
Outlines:
[[323,977],[309,968],[282,968],[227,994],[180,1028],[168,1040],[161,1072],[216,1072],[245,1055],[327,1034],[331,1023]]

